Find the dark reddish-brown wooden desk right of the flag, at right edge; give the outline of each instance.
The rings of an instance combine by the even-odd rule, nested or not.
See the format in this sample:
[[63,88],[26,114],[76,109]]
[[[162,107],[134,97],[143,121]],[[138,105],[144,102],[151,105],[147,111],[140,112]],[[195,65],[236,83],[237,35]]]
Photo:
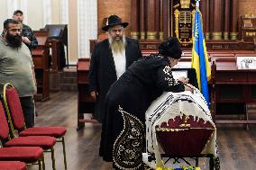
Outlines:
[[[256,103],[255,69],[238,69],[236,58],[215,58],[211,87],[215,123],[245,124],[247,129],[256,123],[247,111],[249,103]],[[233,119],[232,115],[239,116]]]

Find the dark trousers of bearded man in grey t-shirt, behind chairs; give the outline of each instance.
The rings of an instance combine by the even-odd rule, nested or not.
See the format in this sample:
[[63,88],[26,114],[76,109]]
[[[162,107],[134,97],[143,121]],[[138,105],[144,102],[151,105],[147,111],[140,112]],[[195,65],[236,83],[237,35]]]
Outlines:
[[23,107],[23,115],[27,128],[34,126],[34,101],[32,96],[20,97],[20,101]]

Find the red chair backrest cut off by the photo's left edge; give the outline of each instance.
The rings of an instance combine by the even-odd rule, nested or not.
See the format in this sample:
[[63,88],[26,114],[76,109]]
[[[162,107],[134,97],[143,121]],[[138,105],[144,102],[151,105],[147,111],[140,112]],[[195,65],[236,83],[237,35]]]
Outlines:
[[9,127],[5,118],[5,111],[0,102],[0,140],[7,139],[9,135]]

